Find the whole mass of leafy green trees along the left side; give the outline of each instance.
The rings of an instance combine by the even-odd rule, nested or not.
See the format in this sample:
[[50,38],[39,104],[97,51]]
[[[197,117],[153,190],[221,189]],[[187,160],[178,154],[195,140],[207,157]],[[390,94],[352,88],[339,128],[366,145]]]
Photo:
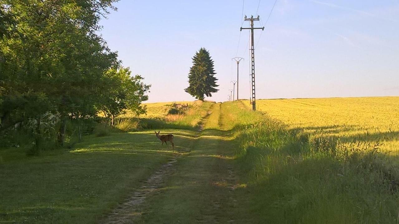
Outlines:
[[0,0],[0,133],[24,124],[39,148],[53,129],[63,145],[69,120],[145,112],[150,85],[97,34],[115,2]]

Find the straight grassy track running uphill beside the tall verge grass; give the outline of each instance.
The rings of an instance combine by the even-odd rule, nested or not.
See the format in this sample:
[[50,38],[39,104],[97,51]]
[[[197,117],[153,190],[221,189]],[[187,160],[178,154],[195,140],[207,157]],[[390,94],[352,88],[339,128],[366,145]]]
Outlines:
[[243,223],[243,191],[237,190],[233,149],[223,130],[220,104],[214,104],[191,152],[179,157],[174,171],[142,205],[137,223]]

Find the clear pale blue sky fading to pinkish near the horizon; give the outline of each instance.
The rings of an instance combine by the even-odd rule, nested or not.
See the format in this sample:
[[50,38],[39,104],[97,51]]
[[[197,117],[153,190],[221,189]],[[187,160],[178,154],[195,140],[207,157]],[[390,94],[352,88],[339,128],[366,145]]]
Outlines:
[[[148,102],[194,100],[184,92],[192,56],[205,47],[225,101],[237,79],[249,98],[249,31],[275,0],[120,0],[101,34],[133,74],[152,84]],[[248,27],[248,22],[243,27]],[[239,41],[240,40],[240,41]],[[399,0],[277,0],[255,31],[257,98],[398,96]]]

